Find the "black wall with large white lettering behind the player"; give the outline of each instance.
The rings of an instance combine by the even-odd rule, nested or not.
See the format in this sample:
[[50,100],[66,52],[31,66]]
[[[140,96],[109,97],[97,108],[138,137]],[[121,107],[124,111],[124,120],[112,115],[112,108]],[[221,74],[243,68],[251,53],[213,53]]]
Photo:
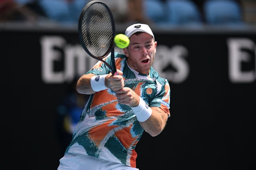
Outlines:
[[[124,31],[120,27],[117,33]],[[154,68],[170,82],[171,117],[160,135],[150,137],[144,133],[136,148],[137,168],[255,167],[256,31],[153,27],[153,32],[158,41]],[[70,81],[65,76],[59,82],[42,78],[42,70],[47,69],[42,66],[42,57],[52,55],[43,54],[41,39],[46,36],[66,41],[64,50],[60,50],[62,59],[54,65],[54,72],[60,72],[65,69],[64,60],[68,60],[68,45],[80,46],[76,29],[0,29],[1,170],[56,170],[63,155],[56,137],[55,109]],[[234,55],[228,45],[230,38],[247,39],[252,44],[242,47],[247,60],[241,61],[240,70],[252,71],[252,77],[246,80],[242,80],[244,75],[238,82],[230,79],[229,57]],[[180,60],[172,60],[173,56]],[[185,70],[177,66],[178,61],[185,63]],[[90,65],[85,64],[84,69]],[[70,77],[79,75],[76,72]]]

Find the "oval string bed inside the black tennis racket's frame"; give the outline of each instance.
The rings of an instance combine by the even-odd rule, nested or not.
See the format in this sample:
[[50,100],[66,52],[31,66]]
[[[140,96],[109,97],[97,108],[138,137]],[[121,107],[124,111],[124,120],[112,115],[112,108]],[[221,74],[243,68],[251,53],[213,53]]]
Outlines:
[[104,57],[112,48],[113,24],[112,16],[103,4],[86,10],[82,20],[82,38],[88,51],[95,57]]

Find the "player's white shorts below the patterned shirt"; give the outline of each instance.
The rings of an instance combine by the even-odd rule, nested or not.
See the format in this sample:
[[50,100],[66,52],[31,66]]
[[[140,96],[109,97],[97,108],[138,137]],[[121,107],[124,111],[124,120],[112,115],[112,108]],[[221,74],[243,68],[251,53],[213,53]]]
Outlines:
[[125,164],[111,162],[78,153],[66,153],[60,159],[58,170],[138,170]]

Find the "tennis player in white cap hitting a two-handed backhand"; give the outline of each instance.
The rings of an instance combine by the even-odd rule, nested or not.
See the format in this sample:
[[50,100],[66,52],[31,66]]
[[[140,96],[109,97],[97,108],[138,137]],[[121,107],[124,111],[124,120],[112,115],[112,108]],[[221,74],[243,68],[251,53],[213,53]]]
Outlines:
[[[159,135],[170,117],[170,86],[153,69],[157,42],[137,23],[130,44],[115,53],[118,75],[102,61],[82,75],[76,89],[90,94],[58,170],[138,170],[136,144],[142,133]],[[110,63],[110,55],[104,58]]]

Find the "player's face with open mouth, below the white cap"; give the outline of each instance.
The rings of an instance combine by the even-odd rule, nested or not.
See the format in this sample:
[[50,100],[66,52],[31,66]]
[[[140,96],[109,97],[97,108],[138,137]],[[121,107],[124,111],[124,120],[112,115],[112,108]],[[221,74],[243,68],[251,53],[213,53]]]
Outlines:
[[149,74],[156,53],[156,44],[148,33],[131,35],[130,44],[124,49],[128,65],[142,74]]

